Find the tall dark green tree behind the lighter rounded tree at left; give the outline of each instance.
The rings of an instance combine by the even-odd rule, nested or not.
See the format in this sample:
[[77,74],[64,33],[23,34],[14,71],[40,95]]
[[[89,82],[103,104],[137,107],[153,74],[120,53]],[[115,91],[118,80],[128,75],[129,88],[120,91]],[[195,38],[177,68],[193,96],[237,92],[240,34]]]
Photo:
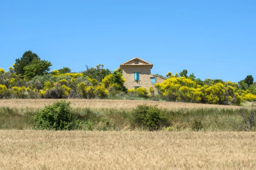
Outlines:
[[21,74],[24,75],[25,71],[24,71],[24,67],[28,66],[29,64],[31,64],[31,62],[33,61],[33,59],[40,59],[40,57],[38,57],[37,54],[33,53],[32,51],[26,51],[22,57],[20,57],[20,59],[15,59],[15,72],[17,74]]

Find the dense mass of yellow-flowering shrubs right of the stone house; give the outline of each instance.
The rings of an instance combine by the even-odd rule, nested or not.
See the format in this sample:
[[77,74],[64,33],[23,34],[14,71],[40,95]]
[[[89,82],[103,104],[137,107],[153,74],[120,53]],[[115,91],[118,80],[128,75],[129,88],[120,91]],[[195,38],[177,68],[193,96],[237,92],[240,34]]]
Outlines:
[[185,77],[169,77],[155,84],[163,99],[168,101],[197,102],[222,105],[240,105],[238,85],[222,80],[205,80],[205,85]]

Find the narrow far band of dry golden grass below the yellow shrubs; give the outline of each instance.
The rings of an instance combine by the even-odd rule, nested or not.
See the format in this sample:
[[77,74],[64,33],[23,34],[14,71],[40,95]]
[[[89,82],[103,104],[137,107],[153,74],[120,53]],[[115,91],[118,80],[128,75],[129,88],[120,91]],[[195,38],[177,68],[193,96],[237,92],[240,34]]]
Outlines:
[[[0,100],[0,107],[10,108],[43,108],[59,99],[6,99]],[[229,105],[209,105],[185,102],[159,102],[147,100],[111,100],[111,99],[68,99],[73,108],[115,108],[132,109],[140,104],[158,105],[160,108],[167,109],[192,109],[192,108],[229,108],[238,109],[239,106]]]

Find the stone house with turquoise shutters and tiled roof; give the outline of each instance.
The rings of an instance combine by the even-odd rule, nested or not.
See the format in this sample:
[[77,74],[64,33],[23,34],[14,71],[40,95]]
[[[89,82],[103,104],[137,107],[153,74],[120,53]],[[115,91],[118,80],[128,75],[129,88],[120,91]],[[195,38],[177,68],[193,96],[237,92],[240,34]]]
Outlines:
[[135,57],[120,65],[122,75],[126,79],[125,87],[131,88],[149,88],[153,87],[156,83],[163,82],[166,78],[151,74],[153,64],[143,59]]

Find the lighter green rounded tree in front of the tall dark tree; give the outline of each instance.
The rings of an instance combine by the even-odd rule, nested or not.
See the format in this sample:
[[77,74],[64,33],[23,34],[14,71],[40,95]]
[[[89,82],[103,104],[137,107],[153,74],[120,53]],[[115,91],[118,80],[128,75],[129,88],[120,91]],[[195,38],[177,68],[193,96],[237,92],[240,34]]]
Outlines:
[[24,78],[32,79],[35,76],[47,74],[50,71],[50,66],[52,66],[51,62],[35,58],[30,65],[23,68]]

